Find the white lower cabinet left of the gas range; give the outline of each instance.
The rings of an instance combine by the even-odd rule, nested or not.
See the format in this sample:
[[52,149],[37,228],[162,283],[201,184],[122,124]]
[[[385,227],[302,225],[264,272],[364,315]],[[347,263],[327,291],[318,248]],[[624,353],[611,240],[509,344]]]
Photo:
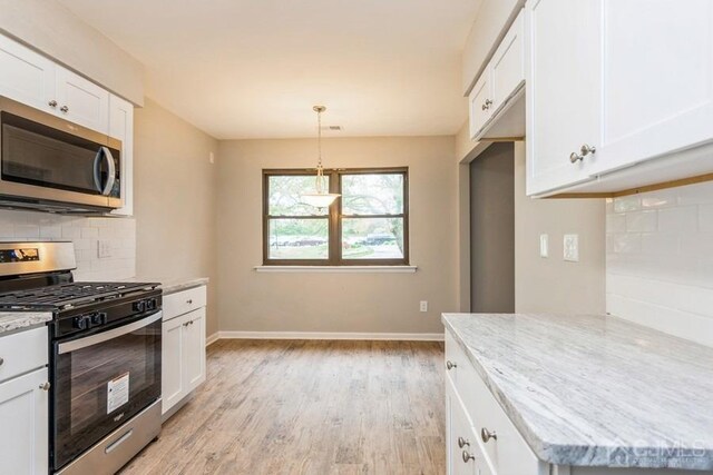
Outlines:
[[[41,360],[38,359],[41,355]],[[47,328],[0,337],[0,474],[47,474]],[[32,366],[29,368],[28,366]]]

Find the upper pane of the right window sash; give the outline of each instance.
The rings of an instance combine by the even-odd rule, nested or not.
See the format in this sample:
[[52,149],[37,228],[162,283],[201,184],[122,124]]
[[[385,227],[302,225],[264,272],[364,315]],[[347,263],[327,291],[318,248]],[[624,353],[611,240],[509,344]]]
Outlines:
[[342,214],[402,212],[403,174],[342,175]]

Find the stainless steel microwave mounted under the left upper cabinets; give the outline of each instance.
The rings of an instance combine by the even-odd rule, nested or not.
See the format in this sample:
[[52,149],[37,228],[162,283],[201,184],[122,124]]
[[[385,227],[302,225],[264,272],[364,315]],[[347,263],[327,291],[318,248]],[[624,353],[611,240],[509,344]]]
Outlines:
[[0,97],[0,206],[56,212],[120,208],[121,142]]

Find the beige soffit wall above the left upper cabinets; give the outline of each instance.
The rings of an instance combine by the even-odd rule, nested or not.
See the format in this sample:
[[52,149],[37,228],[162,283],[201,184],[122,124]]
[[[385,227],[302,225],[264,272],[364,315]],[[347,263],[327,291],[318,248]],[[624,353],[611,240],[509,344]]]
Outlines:
[[0,32],[136,105],[144,103],[143,65],[56,0],[0,0]]

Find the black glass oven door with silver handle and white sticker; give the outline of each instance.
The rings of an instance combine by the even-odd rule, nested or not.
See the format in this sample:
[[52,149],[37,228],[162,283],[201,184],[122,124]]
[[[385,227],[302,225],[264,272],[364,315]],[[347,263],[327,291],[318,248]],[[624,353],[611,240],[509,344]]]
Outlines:
[[162,313],[55,343],[52,465],[59,469],[160,397]]

